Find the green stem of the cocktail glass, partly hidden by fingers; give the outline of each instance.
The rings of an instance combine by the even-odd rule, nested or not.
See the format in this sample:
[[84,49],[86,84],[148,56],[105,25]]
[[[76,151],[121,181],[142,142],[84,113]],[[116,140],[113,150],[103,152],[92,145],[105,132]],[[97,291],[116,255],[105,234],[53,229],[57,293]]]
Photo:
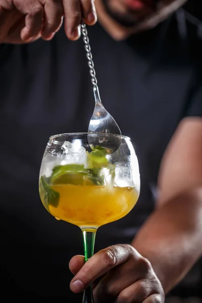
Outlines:
[[[83,234],[83,246],[86,262],[94,253],[94,242],[97,229],[86,227],[82,228],[81,230]],[[94,303],[91,285],[84,290],[82,303]]]

